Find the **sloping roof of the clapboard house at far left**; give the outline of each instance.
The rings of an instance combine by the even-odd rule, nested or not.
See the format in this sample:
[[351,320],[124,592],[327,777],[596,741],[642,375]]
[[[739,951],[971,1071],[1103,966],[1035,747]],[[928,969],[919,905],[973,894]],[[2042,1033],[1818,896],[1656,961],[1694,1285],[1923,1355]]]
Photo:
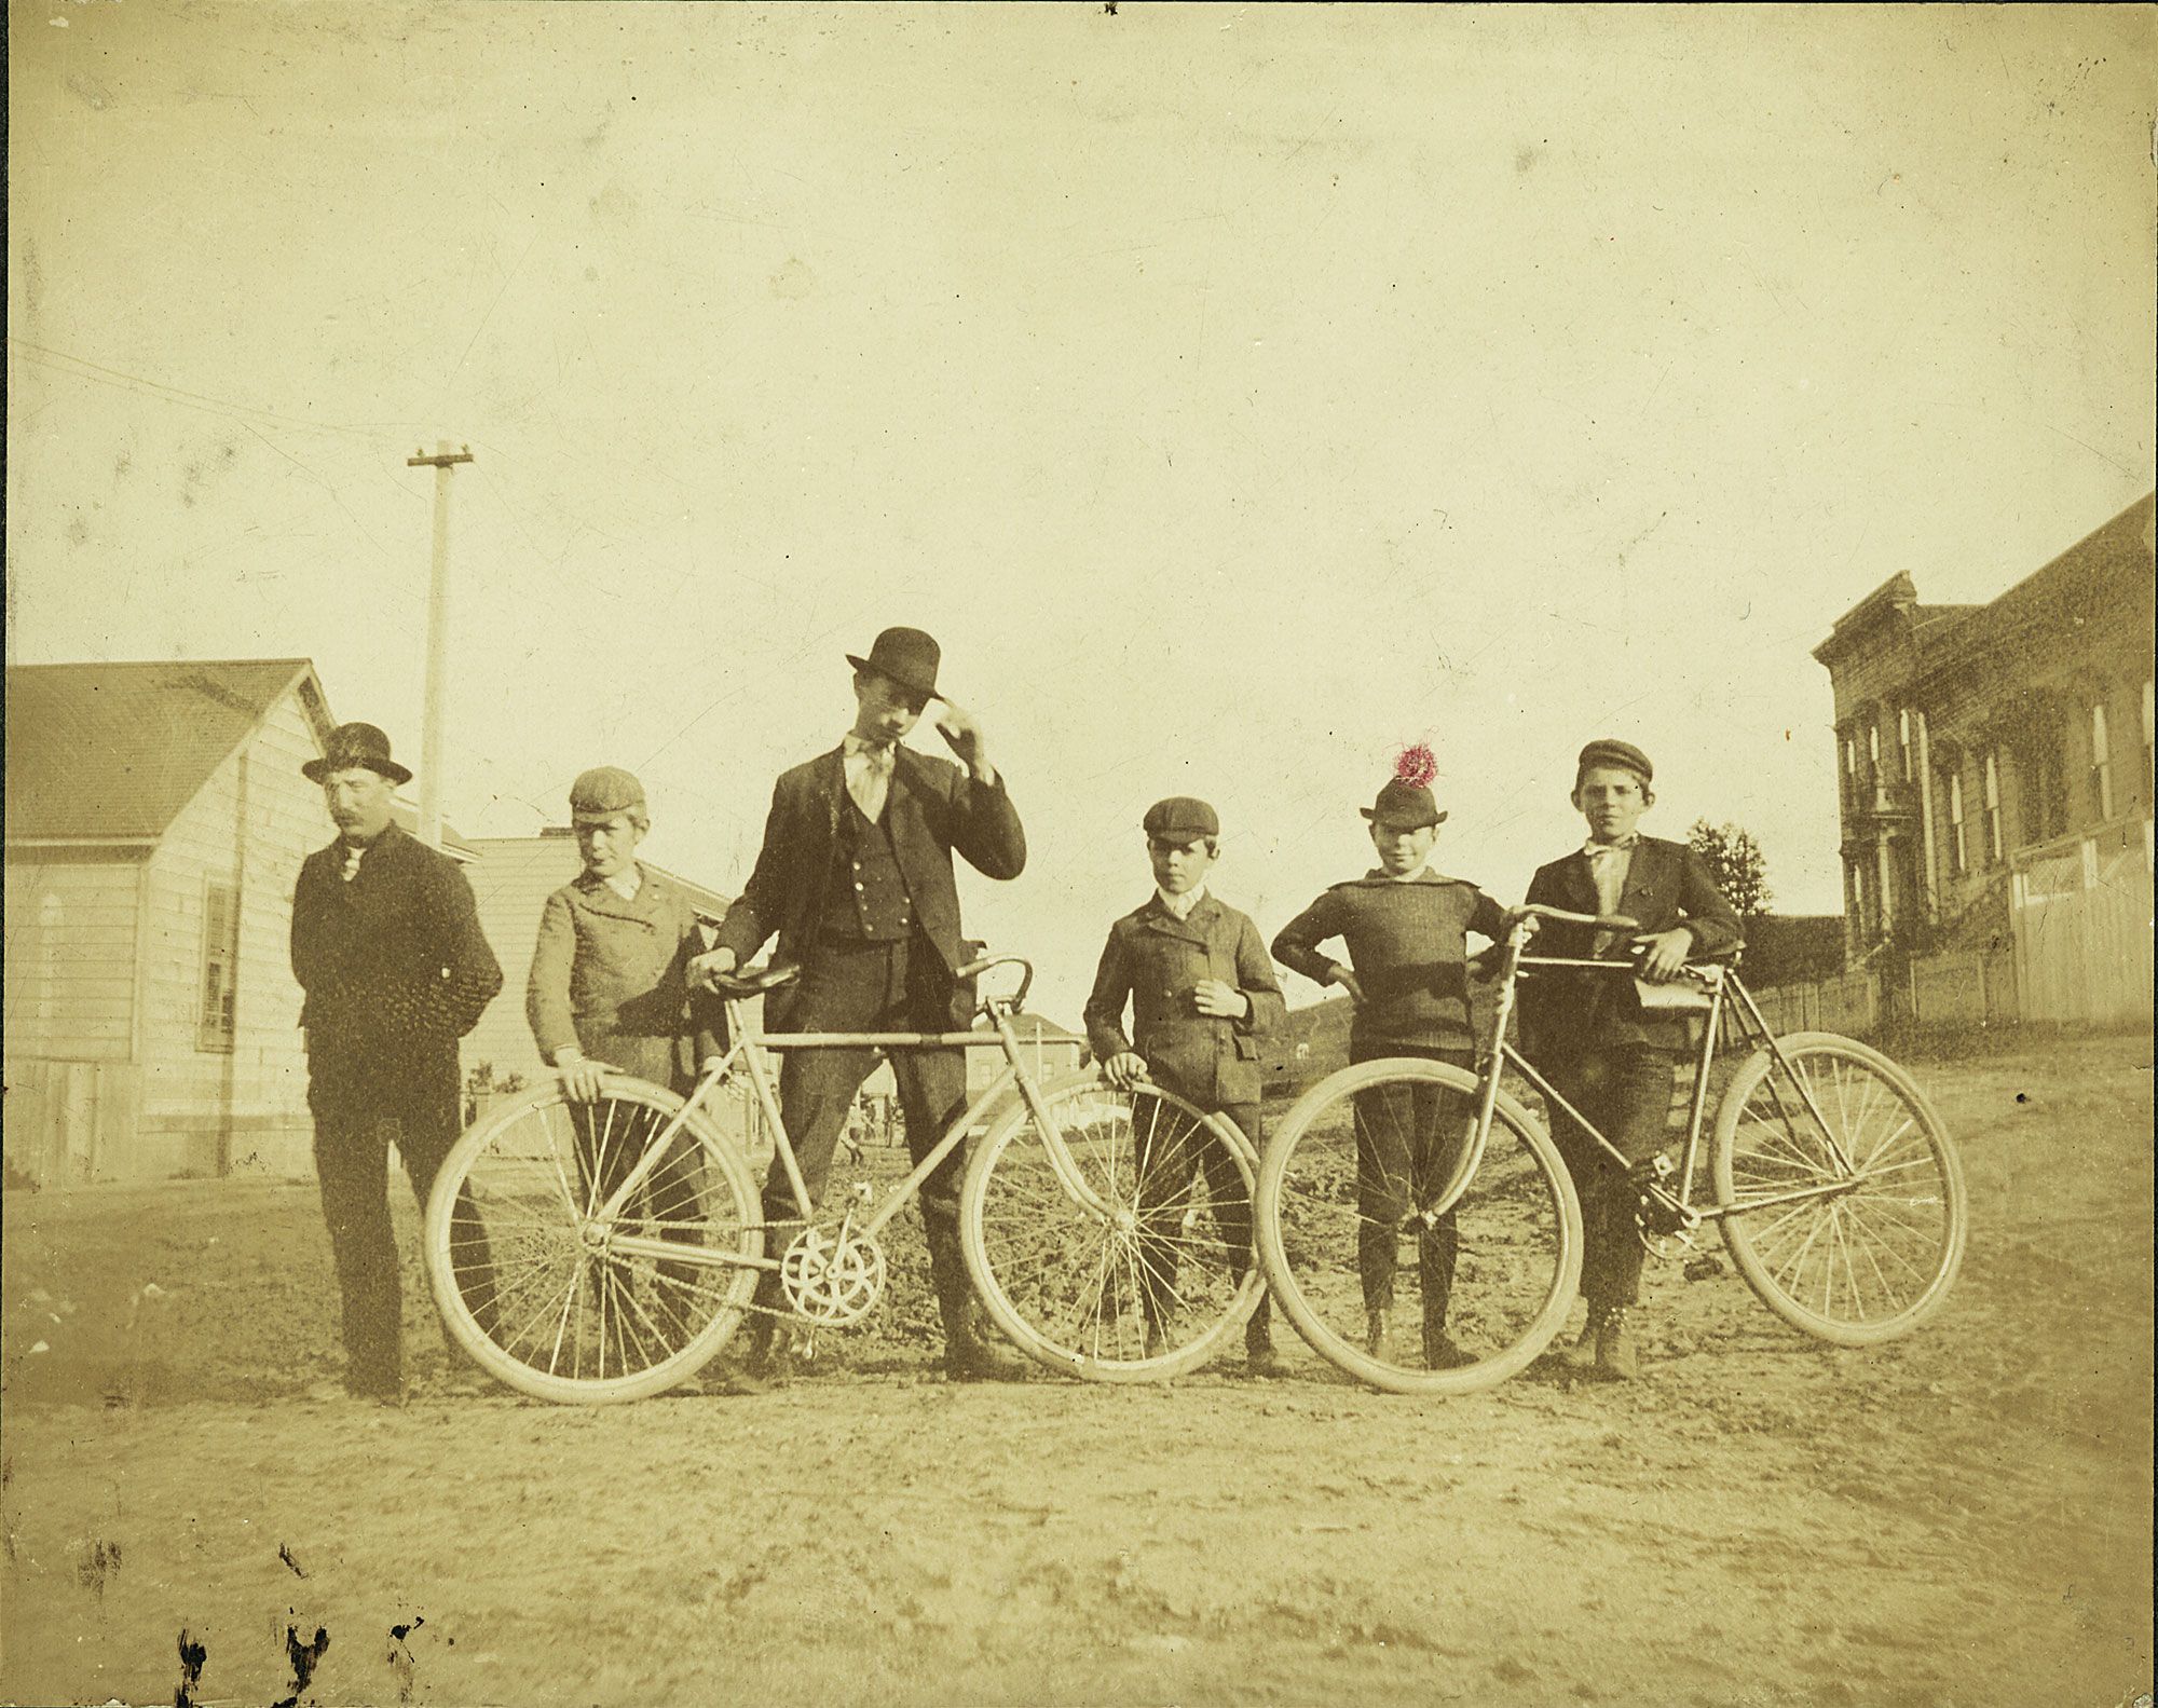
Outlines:
[[[278,697],[313,677],[304,658],[11,666],[9,841],[155,841]],[[313,701],[326,720],[319,684]]]

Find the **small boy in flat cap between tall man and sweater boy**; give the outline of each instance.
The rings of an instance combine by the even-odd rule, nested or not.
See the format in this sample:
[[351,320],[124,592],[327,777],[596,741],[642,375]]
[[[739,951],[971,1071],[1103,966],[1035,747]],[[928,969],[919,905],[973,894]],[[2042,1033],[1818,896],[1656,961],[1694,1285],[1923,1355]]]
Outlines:
[[[1109,927],[1085,1003],[1088,1044],[1118,1089],[1152,1080],[1202,1113],[1226,1115],[1254,1147],[1262,1145],[1258,1046],[1282,1024],[1286,1005],[1258,927],[1206,891],[1206,871],[1221,854],[1221,822],[1204,800],[1172,796],[1148,807],[1139,828],[1155,895]],[[1178,1154],[1148,1169],[1142,1216],[1185,1193],[1196,1171],[1198,1160]],[[1241,1283],[1252,1264],[1249,1193],[1217,1147],[1206,1152],[1206,1175],[1228,1270]],[[1139,1298],[1150,1341],[1176,1296],[1176,1246],[1161,1244],[1165,1272],[1148,1275]],[[1278,1372],[1265,1296],[1245,1324],[1243,1348],[1254,1374]]]

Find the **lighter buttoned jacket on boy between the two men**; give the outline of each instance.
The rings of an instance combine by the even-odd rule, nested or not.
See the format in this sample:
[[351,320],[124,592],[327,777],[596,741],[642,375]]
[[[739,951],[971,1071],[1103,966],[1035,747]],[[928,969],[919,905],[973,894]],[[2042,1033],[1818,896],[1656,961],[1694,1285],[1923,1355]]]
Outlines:
[[650,867],[639,876],[628,901],[589,871],[546,899],[524,1018],[546,1061],[574,1044],[593,1061],[682,1091],[695,1061],[719,1052],[706,1005],[693,1011],[688,996],[686,968],[704,934],[675,884]]

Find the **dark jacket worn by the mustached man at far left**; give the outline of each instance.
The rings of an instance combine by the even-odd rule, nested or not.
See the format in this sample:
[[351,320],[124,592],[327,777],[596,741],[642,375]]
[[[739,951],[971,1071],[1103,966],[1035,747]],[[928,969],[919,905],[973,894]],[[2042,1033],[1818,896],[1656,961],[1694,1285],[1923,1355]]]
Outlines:
[[358,1070],[388,1083],[457,1070],[464,1037],[503,988],[473,886],[447,854],[395,824],[343,880],[345,848],[317,848],[291,897],[291,973],[306,992],[311,1078]]

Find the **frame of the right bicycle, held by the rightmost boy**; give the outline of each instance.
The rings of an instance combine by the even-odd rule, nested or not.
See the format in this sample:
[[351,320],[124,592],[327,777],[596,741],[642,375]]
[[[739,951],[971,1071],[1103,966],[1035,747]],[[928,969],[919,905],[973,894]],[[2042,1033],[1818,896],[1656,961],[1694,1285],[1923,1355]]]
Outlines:
[[[1567,1098],[1549,1083],[1549,1078],[1545,1078],[1528,1057],[1524,1057],[1513,1044],[1506,1042],[1506,1020],[1513,1016],[1515,988],[1524,970],[1536,973],[1543,968],[1567,968],[1567,970],[1584,970],[1601,975],[1618,973],[1625,977],[1634,977],[1634,966],[1629,962],[1526,955],[1524,953],[1526,947],[1528,947],[1528,932],[1524,929],[1524,925],[1515,925],[1506,934],[1506,945],[1500,960],[1500,996],[1498,996],[1498,1014],[1493,1016],[1491,1042],[1476,1061],[1476,1078],[1478,1078],[1476,1124],[1470,1134],[1470,1145],[1463,1156],[1463,1162],[1454,1173],[1454,1180],[1439,1195],[1439,1201],[1431,1210],[1422,1212],[1426,1221],[1437,1221],[1437,1216],[1450,1210],[1459,1201],[1461,1193],[1467,1190],[1467,1184],[1476,1173],[1476,1165],[1483,1160],[1485,1145],[1491,1139],[1491,1117],[1493,1111],[1498,1108],[1500,1080],[1504,1080],[1506,1068],[1513,1068],[1515,1072],[1521,1074],[1521,1078],[1526,1078],[1532,1087],[1536,1087],[1536,1091],[1545,1098],[1547,1106],[1565,1111],[1580,1126],[1580,1130],[1588,1134],[1588,1139],[1597,1145],[1597,1149],[1603,1152],[1603,1156],[1608,1156],[1621,1169],[1627,1171],[1634,1169],[1634,1162],[1627,1160],[1625,1152],[1621,1152],[1610,1139],[1606,1139],[1603,1132],[1595,1126],[1595,1121],[1590,1121],[1586,1115],[1582,1115],[1582,1111],[1577,1111],[1571,1102],[1567,1102]],[[1746,1037],[1748,1044],[1752,1044],[1754,1048],[1767,1048],[1767,1052],[1776,1059],[1776,1065],[1783,1068],[1785,1080],[1789,1080],[1789,1085],[1795,1087],[1798,1098],[1806,1108],[1806,1115],[1813,1117],[1813,1126],[1828,1143],[1830,1154],[1836,1158],[1836,1167],[1843,1169],[1845,1173],[1856,1173],[1854,1162],[1845,1154],[1834,1126],[1826,1119],[1819,1104],[1813,1100],[1813,1087],[1806,1085],[1806,1080],[1791,1070],[1791,1061],[1776,1044],[1776,1035],[1770,1031],[1767,1020],[1761,1018],[1761,1009],[1754,1005],[1752,994],[1739,981],[1737,968],[1713,966],[1713,964],[1690,966],[1685,968],[1685,977],[1707,986],[1709,1007],[1701,1027],[1701,1055],[1694,1061],[1694,1089],[1685,1117],[1685,1149],[1677,1167],[1679,1190],[1670,1193],[1660,1180],[1644,1182],[1642,1190],[1649,1197],[1657,1199],[1670,1214],[1675,1214],[1679,1218],[1679,1227],[1688,1231],[1696,1229],[1705,1221],[1722,1221],[1724,1216],[1737,1214],[1737,1206],[1705,1206],[1696,1210],[1692,1201],[1694,1173],[1701,1162],[1701,1121],[1707,1115],[1709,1106],[1709,1068],[1716,1063],[1716,1042],[1722,1035],[1726,1016],[1735,1016],[1739,1033]],[[1737,996],[1737,1005],[1731,1005],[1729,1001],[1731,996]],[[1770,1080],[1770,1085],[1774,1085],[1774,1080]],[[1854,1186],[1856,1182],[1852,1184],[1834,1182],[1828,1186],[1793,1188],[1789,1193],[1776,1193],[1772,1197],[1752,1197],[1744,1203],[1744,1210],[1746,1214],[1754,1214],[1759,1210],[1767,1210],[1783,1203],[1804,1203],[1821,1197],[1843,1197],[1849,1190],[1854,1190]]]

